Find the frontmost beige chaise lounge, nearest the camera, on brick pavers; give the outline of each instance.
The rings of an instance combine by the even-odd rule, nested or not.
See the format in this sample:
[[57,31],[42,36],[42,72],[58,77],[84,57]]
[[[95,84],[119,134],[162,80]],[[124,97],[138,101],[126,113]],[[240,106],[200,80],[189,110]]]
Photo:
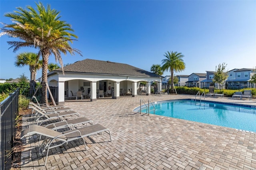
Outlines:
[[[72,129],[72,130],[68,130],[68,131],[64,131],[64,132],[57,132],[55,130],[48,129],[45,127],[40,127],[38,125],[29,125],[28,130],[21,132],[20,139],[26,137],[27,135],[33,135],[33,134],[39,134],[39,135],[46,137],[39,148],[40,155],[42,155],[42,153],[45,150],[47,150],[46,159],[44,162],[44,166],[45,166],[50,149],[56,148],[58,146],[62,146],[65,143],[68,143],[70,141],[77,140],[77,139],[81,138],[83,140],[84,146],[87,150],[84,137],[102,133],[105,131],[106,132],[108,131],[108,134],[110,136],[110,142],[111,142],[112,139],[111,139],[110,130],[108,128],[103,127],[100,124],[91,125],[88,127],[76,128],[76,129]],[[42,152],[41,152],[41,148],[43,148]]]

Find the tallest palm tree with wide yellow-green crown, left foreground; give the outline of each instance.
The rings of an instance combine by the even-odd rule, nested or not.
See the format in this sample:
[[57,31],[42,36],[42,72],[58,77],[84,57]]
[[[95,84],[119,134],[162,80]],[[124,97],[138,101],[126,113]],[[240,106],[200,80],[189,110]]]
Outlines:
[[14,13],[6,13],[4,16],[10,17],[12,24],[5,24],[0,36],[6,34],[9,37],[19,38],[21,41],[7,42],[14,48],[14,52],[20,47],[34,47],[39,49],[42,55],[42,103],[48,103],[47,99],[47,71],[48,59],[54,55],[55,60],[59,61],[62,71],[63,63],[61,53],[71,55],[78,53],[80,50],[70,46],[73,38],[78,38],[70,33],[74,32],[71,25],[60,19],[60,12],[51,10],[50,5],[47,8],[41,2],[36,3],[36,9],[26,6],[26,9],[18,7]]

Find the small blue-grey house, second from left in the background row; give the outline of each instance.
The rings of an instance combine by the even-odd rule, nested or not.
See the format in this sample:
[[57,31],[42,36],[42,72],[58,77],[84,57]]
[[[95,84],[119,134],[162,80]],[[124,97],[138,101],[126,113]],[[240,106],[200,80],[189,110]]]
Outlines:
[[192,73],[188,76],[188,81],[186,81],[186,86],[188,87],[200,87],[200,82],[206,79],[206,73]]

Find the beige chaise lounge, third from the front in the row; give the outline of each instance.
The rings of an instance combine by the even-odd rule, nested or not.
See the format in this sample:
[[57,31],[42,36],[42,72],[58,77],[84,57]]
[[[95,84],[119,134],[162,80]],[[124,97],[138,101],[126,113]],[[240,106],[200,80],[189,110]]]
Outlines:
[[62,119],[65,116],[74,116],[74,117],[76,117],[76,115],[78,117],[80,117],[80,114],[75,112],[75,111],[66,111],[66,112],[60,112],[60,113],[58,113],[58,112],[46,113],[45,111],[42,111],[42,110],[40,110],[40,109],[38,109],[38,108],[36,108],[32,105],[28,105],[28,108],[33,109],[36,112],[36,114],[32,115],[32,119],[34,119],[33,123],[35,123],[35,122],[38,123],[41,118]]

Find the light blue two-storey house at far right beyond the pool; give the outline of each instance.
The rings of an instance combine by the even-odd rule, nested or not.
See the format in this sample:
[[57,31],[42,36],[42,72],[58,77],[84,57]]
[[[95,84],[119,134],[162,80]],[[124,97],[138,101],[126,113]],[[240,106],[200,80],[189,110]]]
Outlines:
[[232,69],[228,71],[228,78],[226,79],[226,89],[238,89],[250,87],[250,79],[254,74],[254,69]]

